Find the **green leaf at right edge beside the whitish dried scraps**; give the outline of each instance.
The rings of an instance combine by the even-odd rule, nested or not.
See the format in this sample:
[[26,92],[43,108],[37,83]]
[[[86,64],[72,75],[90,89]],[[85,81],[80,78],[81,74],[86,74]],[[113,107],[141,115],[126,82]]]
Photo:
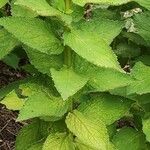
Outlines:
[[150,45],[150,13],[145,12],[134,17],[136,33],[142,36]]

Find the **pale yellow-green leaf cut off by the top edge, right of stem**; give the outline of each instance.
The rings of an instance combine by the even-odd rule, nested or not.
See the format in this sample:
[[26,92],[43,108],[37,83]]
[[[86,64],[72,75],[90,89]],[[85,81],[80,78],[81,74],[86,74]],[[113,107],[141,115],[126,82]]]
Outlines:
[[87,3],[96,3],[101,5],[122,5],[131,0],[73,0],[77,5],[84,6]]

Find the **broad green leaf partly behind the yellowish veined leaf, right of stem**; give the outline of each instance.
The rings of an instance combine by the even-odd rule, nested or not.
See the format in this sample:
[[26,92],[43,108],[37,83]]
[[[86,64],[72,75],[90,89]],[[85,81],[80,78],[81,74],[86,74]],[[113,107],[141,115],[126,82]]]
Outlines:
[[110,125],[128,114],[132,103],[133,101],[120,96],[101,94],[93,95],[92,100],[82,103],[78,109],[87,118]]

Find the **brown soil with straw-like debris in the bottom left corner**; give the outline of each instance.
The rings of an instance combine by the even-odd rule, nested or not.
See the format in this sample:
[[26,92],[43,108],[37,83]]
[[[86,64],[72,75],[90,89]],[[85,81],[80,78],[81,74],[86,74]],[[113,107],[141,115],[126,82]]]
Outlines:
[[14,150],[16,135],[23,126],[15,121],[17,114],[0,105],[0,150]]

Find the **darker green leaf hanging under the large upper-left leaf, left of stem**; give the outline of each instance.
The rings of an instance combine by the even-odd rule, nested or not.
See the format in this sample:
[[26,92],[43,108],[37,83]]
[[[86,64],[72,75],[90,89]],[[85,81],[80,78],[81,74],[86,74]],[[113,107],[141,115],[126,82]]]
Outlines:
[[49,74],[50,68],[60,69],[63,65],[62,55],[49,56],[31,48],[25,48],[25,51],[31,64],[44,74]]

